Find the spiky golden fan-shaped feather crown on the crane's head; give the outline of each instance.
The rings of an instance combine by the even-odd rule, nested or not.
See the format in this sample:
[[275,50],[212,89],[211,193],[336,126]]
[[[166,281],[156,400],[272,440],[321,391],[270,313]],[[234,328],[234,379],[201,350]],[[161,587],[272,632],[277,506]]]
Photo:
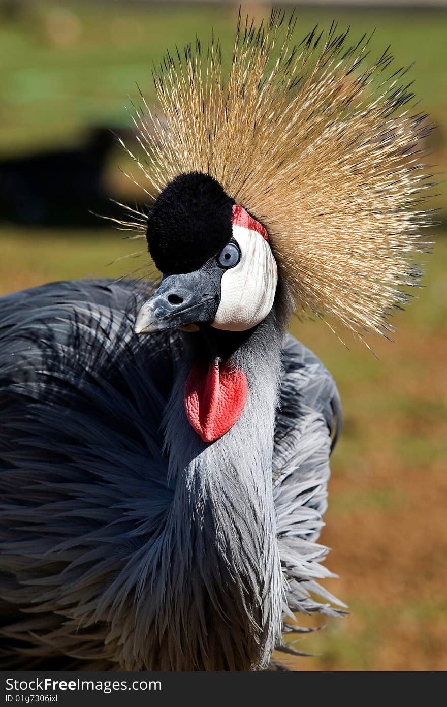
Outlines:
[[[154,73],[161,112],[134,121],[150,198],[181,173],[208,173],[261,221],[297,313],[333,315],[360,336],[387,335],[427,250],[420,210],[426,115],[409,108],[404,69],[336,25],[293,45],[295,20],[273,10],[258,27],[239,13],[230,67],[213,38]],[[145,231],[145,215],[121,225]],[[425,246],[425,247],[424,247]]]

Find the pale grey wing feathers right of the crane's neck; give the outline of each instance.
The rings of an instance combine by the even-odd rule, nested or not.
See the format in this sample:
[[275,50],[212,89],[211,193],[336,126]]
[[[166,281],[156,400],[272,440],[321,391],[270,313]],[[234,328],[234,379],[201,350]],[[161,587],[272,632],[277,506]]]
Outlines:
[[328,550],[316,540],[327,506],[330,451],[340,431],[340,398],[328,370],[290,336],[283,369],[272,472],[285,614],[333,614],[338,609],[330,604],[344,604],[315,581],[333,576],[321,565]]

